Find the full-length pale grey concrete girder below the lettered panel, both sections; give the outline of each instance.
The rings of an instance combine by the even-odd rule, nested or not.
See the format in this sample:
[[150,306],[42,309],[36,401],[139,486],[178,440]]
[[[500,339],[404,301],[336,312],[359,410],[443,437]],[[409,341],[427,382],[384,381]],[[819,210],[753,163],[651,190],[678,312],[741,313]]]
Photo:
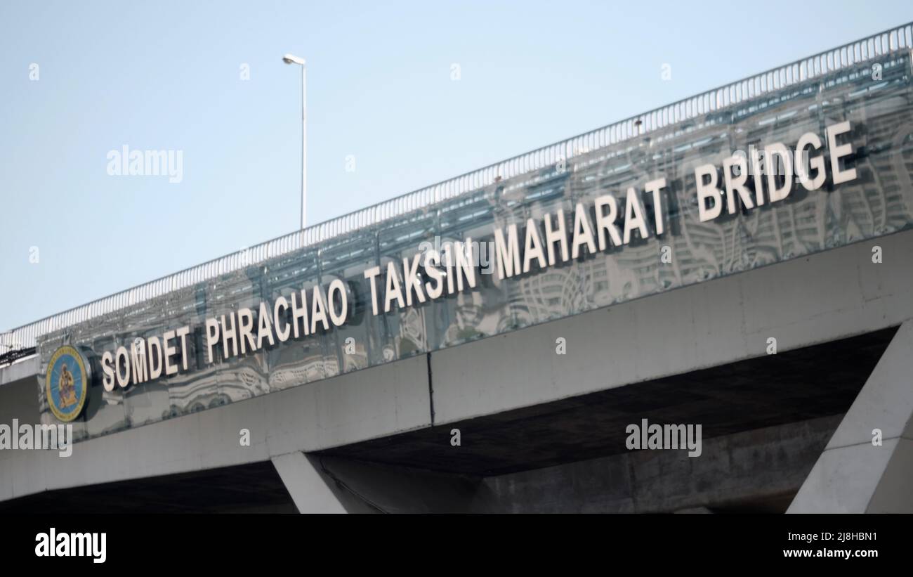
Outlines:
[[[913,318],[911,253],[908,231],[438,351],[433,383],[423,355],[80,442],[69,457],[0,451],[0,500],[428,427],[430,389],[446,424],[759,357],[770,337],[785,351],[897,326]],[[0,406],[15,388],[0,387]]]

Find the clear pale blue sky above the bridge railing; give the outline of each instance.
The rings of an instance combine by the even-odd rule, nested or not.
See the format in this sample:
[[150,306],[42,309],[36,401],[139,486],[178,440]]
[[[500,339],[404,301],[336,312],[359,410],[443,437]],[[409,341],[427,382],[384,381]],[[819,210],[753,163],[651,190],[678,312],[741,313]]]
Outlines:
[[[4,2],[0,330],[295,230],[286,52],[308,59],[316,223],[909,20],[893,0]],[[124,144],[183,151],[183,181],[108,175]]]

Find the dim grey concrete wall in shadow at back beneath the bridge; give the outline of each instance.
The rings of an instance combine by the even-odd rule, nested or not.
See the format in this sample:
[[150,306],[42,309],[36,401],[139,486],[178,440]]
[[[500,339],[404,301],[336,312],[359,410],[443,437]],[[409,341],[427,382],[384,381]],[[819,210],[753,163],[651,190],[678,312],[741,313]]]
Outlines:
[[802,486],[841,416],[705,439],[703,454],[632,451],[488,477],[500,510],[777,512]]

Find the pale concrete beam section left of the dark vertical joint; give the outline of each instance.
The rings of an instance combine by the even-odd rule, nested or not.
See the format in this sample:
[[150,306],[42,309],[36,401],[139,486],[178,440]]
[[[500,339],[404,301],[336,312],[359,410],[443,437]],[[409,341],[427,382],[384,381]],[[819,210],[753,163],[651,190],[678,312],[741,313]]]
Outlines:
[[[347,445],[428,426],[427,377],[427,360],[421,355],[81,441],[71,456],[2,450],[0,500],[264,462],[294,451]],[[17,387],[0,389],[0,407],[8,393],[19,391]],[[37,423],[37,390],[26,383],[20,393],[29,399]],[[13,416],[27,422],[26,414]],[[250,433],[249,446],[239,442],[241,429]]]

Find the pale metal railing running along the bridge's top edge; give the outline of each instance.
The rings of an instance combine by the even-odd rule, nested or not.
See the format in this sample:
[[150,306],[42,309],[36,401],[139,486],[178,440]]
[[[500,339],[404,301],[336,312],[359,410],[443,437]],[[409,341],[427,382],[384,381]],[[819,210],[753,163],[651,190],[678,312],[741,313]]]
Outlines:
[[103,299],[51,315],[25,326],[0,334],[0,353],[36,346],[38,336],[63,329],[84,320],[130,307],[165,293],[193,286],[227,272],[244,268],[268,258],[277,257],[303,247],[309,247],[334,236],[344,235],[362,226],[373,226],[396,216],[435,205],[459,194],[476,191],[508,180],[514,176],[566,161],[574,156],[666,128],[677,122],[725,109],[762,94],[780,90],[792,84],[854,66],[872,58],[913,47],[913,23],[897,26],[841,47],[832,48],[791,64],[772,68],[747,79],[708,90],[697,96],[678,100],[656,110],[638,114],[624,121],[574,136],[562,142],[520,154],[506,161],[462,174],[442,183],[432,184],[412,193],[362,208],[348,215],[309,226],[289,235],[279,236],[255,247],[225,257],[215,258],[202,265],[186,268],[167,277],[152,280],[138,287],[123,290]]

